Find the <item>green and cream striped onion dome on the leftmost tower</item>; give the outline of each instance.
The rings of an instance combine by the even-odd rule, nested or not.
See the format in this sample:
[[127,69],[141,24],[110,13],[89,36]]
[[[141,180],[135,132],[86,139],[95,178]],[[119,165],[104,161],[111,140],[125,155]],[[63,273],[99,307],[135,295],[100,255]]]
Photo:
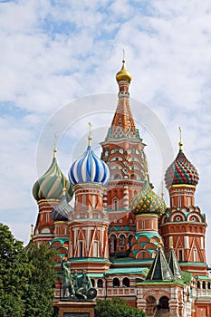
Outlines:
[[69,202],[73,196],[72,184],[63,175],[56,159],[56,149],[53,149],[53,162],[48,170],[39,178],[33,187],[34,199],[61,199],[62,188],[65,184],[66,199]]

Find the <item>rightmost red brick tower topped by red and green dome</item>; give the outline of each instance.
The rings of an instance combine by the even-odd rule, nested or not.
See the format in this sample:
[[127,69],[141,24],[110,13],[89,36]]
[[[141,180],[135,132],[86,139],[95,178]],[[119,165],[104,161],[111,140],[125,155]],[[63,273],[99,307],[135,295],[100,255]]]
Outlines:
[[167,248],[174,247],[183,270],[207,275],[206,271],[206,216],[195,206],[198,183],[197,169],[187,159],[178,143],[177,158],[168,167],[165,180],[170,207],[160,220],[160,235]]

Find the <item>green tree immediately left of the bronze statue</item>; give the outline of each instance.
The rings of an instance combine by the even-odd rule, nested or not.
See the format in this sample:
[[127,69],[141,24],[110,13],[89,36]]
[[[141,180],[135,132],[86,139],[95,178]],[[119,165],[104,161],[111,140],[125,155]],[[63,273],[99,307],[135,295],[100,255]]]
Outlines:
[[55,250],[49,245],[31,244],[28,252],[31,276],[25,296],[25,317],[51,317],[53,315],[53,293],[56,279]]

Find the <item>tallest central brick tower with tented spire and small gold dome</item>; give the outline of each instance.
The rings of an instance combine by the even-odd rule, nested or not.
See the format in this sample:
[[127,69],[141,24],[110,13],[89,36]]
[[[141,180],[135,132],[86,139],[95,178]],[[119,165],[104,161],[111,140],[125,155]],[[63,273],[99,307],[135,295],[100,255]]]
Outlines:
[[[144,184],[147,165],[145,144],[139,137],[129,106],[131,74],[122,68],[116,74],[119,101],[106,139],[101,143],[103,159],[110,168],[110,181],[104,192],[104,207],[110,216],[110,253],[125,254],[135,230],[135,217],[129,201]],[[118,226],[119,225],[119,226]]]

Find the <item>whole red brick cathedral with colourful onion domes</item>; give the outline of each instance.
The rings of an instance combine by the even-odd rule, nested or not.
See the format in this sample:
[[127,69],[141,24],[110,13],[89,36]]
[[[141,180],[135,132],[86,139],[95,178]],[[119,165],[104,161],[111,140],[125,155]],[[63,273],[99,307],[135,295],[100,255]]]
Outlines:
[[90,132],[68,178],[55,148],[50,168],[34,184],[38,216],[32,239],[58,252],[54,303],[61,297],[65,258],[72,273],[88,272],[98,298],[119,296],[149,317],[157,309],[172,317],[211,316],[206,215],[195,206],[197,168],[180,139],[177,158],[165,174],[167,207],[149,180],[145,144],[129,105],[131,74],[125,61],[116,80],[119,101],[101,142],[101,159],[91,149]]

